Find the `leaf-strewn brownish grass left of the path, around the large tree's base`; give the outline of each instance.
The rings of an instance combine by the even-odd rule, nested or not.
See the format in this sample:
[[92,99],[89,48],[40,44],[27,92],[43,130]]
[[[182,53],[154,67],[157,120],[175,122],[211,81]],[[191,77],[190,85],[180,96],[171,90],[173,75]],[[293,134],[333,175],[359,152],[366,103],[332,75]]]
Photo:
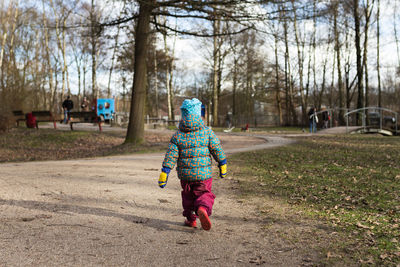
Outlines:
[[0,162],[63,160],[165,151],[171,134],[151,134],[146,142],[124,144],[124,132],[14,128],[0,133]]

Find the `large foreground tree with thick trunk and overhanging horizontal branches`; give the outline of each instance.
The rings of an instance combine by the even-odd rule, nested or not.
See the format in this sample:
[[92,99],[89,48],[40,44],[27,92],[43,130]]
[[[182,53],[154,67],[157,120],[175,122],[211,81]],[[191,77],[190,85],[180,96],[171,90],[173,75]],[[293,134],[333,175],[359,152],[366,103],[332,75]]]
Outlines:
[[[245,4],[246,1],[243,1]],[[132,88],[132,104],[131,104],[131,116],[128,125],[128,131],[125,141],[127,143],[140,143],[144,139],[144,107],[146,100],[146,55],[147,55],[147,41],[149,35],[150,17],[152,14],[166,15],[172,17],[184,17],[213,20],[213,16],[209,16],[209,7],[212,4],[218,5],[218,16],[222,19],[236,19],[241,25],[246,20],[246,14],[244,6],[241,9],[235,10],[236,14],[230,12],[233,7],[237,7],[238,3],[231,1],[216,1],[216,2],[191,2],[190,5],[182,5],[181,2],[177,1],[164,1],[158,2],[156,0],[139,1],[139,14],[135,32],[135,60],[134,60],[134,82]],[[163,7],[169,7],[176,10],[184,11],[185,14],[181,15],[179,12],[168,12]],[[241,13],[240,13],[241,12]],[[238,13],[241,14],[240,21],[237,19]],[[249,16],[248,16],[249,18]],[[133,19],[133,18],[132,18]],[[127,21],[127,20],[125,20]],[[120,22],[118,22],[120,23]],[[171,29],[168,25],[162,25],[157,21],[152,21],[157,28],[163,27],[164,29]],[[244,26],[238,31],[244,31],[249,27]],[[194,36],[211,37],[212,34],[204,34],[196,31],[188,30],[174,30],[175,32],[192,34]]]

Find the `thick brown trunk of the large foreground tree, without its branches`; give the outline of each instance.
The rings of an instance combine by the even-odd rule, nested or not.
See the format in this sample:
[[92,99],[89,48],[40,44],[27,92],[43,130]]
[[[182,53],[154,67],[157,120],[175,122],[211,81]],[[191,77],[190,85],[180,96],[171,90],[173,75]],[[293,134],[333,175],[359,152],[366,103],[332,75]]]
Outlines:
[[146,57],[150,30],[150,15],[155,0],[140,2],[139,18],[135,32],[135,60],[132,101],[125,143],[140,144],[144,141],[144,107],[146,101]]

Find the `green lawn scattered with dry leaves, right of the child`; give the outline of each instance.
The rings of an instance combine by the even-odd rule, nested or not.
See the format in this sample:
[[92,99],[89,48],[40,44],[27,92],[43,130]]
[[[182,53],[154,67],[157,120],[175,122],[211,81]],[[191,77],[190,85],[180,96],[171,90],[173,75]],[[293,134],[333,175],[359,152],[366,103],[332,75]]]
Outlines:
[[[400,138],[377,135],[299,137],[271,150],[234,155],[247,197],[278,198],[327,221],[345,237],[339,261],[400,263]],[[329,261],[328,261],[329,264]],[[399,266],[399,265],[397,265]]]

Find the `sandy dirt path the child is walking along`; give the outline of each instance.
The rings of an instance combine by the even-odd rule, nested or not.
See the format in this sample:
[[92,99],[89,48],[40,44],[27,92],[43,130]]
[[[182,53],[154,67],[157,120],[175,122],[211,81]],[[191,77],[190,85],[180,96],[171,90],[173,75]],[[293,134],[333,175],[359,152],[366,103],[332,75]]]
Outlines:
[[[288,142],[220,138],[228,153]],[[214,180],[211,231],[184,227],[176,172],[165,189],[157,186],[162,160],[162,154],[140,154],[1,164],[0,266],[299,266],[315,260],[303,244],[261,231],[267,222],[235,196],[230,179]]]

